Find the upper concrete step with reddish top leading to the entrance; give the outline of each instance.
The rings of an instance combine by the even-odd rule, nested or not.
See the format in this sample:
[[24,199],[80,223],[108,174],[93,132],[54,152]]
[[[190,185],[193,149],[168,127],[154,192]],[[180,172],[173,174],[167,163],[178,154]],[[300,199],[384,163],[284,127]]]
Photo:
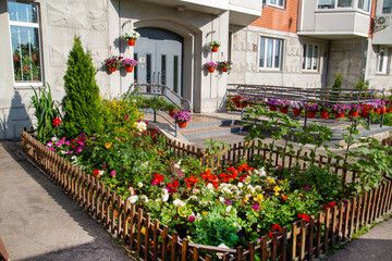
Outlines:
[[218,127],[205,127],[197,129],[189,129],[186,125],[186,128],[181,130],[181,135],[183,135],[187,139],[196,139],[196,138],[209,138],[215,136],[222,136],[229,134],[240,133],[244,129],[242,125],[230,125],[230,126],[218,126]]

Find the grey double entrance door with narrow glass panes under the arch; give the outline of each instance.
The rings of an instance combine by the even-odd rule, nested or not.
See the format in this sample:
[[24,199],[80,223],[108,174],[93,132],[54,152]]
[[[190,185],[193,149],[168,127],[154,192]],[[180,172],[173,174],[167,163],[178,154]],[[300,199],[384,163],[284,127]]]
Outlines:
[[[182,96],[183,38],[160,28],[139,28],[135,45],[135,82],[166,85]],[[137,73],[136,73],[137,72]]]

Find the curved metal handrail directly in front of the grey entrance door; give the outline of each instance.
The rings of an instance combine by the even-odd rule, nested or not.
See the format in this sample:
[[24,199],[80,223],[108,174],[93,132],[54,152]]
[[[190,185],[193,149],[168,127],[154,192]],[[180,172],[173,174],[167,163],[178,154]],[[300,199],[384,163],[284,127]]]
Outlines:
[[[188,111],[192,110],[192,103],[189,100],[182,98],[179,94],[174,92],[166,85],[160,84],[132,84],[128,91],[137,92],[144,96],[152,96],[155,98],[164,97],[169,102],[174,104],[179,110]],[[157,111],[154,109],[154,123],[157,122]],[[170,121],[167,121],[171,124]],[[174,136],[177,137],[177,122],[174,122]]]

